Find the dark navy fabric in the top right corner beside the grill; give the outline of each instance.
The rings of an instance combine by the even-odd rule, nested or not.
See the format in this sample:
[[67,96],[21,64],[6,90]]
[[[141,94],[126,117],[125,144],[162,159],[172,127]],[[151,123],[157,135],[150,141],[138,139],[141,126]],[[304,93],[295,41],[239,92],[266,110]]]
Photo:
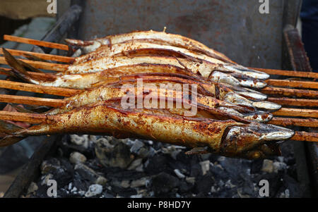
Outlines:
[[312,69],[318,70],[318,0],[303,0],[300,18],[302,42],[310,58]]

